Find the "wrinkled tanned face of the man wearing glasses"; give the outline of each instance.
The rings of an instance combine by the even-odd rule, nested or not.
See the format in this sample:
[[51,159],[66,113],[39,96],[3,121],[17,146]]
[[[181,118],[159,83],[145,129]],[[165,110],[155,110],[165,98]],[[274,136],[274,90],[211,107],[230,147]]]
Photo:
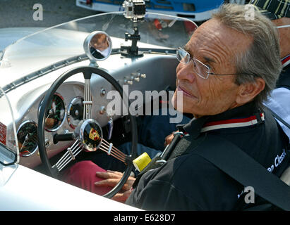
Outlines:
[[[252,39],[222,25],[219,20],[211,19],[195,30],[185,50],[215,74],[234,74],[235,55],[246,51]],[[176,91],[183,94],[183,113],[192,113],[195,117],[215,115],[238,105],[238,85],[235,75],[210,75],[203,79],[195,74],[193,62],[179,63],[176,68]],[[172,103],[177,107],[177,94]]]

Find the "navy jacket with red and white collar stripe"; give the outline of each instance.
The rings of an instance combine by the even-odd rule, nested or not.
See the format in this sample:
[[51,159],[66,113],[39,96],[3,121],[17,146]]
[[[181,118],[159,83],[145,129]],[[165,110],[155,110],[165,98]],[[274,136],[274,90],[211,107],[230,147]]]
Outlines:
[[[179,127],[190,134],[183,137],[190,148],[180,155],[178,152],[182,149],[178,143],[166,164],[141,177],[126,203],[144,210],[236,210],[244,187],[194,151],[210,132],[236,144],[265,169],[280,176],[289,165],[290,158],[285,151],[289,140],[268,110],[263,110],[265,121],[258,124],[200,133],[206,122],[250,117],[260,111],[255,103],[247,103],[219,115],[193,119]],[[219,143],[212,145],[218,153]],[[258,196],[255,198],[256,203],[260,202]]]

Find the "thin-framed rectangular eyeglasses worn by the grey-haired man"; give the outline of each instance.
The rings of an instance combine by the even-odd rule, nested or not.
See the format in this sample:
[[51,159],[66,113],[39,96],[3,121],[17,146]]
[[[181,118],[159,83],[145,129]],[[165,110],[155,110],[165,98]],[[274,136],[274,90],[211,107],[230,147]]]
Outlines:
[[176,58],[179,62],[183,64],[188,64],[193,61],[193,70],[194,72],[203,79],[207,79],[210,75],[216,76],[226,76],[226,75],[252,75],[252,74],[238,74],[238,73],[231,73],[231,74],[224,74],[224,75],[217,75],[214,72],[210,72],[210,67],[205,65],[204,63],[200,62],[200,60],[191,57],[191,55],[185,51],[184,49],[180,48],[176,50]]

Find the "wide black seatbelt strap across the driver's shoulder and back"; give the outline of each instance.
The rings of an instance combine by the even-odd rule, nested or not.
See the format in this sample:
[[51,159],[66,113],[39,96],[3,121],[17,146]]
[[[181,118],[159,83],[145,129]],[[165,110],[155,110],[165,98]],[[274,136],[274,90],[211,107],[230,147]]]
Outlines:
[[[243,186],[252,186],[255,193],[282,210],[290,211],[290,187],[277,176],[250,158],[238,146],[222,137],[207,135],[195,153],[212,162]],[[219,150],[212,143],[219,143]]]

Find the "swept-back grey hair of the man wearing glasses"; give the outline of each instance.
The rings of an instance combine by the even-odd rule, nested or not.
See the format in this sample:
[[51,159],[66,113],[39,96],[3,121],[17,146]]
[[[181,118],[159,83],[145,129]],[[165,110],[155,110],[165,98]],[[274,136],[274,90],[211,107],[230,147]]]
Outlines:
[[250,47],[236,55],[236,72],[245,75],[237,75],[235,82],[240,85],[253,83],[257,77],[264,79],[265,89],[254,99],[257,105],[262,106],[262,101],[267,99],[276,86],[282,70],[279,37],[274,24],[264,15],[255,11],[254,18],[248,18],[246,6],[224,4],[212,18],[253,38]]

